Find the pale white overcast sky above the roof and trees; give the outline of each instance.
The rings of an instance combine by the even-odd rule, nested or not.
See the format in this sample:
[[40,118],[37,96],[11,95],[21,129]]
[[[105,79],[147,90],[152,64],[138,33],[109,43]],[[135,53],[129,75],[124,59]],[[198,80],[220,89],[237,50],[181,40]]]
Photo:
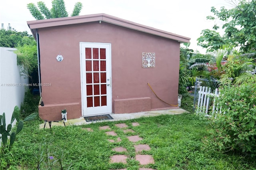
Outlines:
[[[18,32],[28,31],[27,21],[35,20],[27,9],[27,4],[43,1],[48,9],[52,0],[0,0],[0,23],[7,28],[8,23]],[[64,0],[68,14],[74,4],[82,2],[80,15],[105,13],[124,20],[136,22],[181,36],[191,38],[190,49],[205,53],[206,49],[197,45],[202,30],[212,29],[219,21],[206,20],[212,15],[211,7],[219,10],[222,6],[232,8],[230,0]]]

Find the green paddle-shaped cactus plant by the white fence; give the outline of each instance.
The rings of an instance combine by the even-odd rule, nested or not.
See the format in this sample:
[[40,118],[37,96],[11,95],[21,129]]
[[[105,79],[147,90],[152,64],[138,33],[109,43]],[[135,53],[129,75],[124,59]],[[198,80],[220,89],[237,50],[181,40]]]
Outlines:
[[[0,115],[0,134],[1,134],[0,139],[2,138],[3,147],[8,146],[8,144],[7,144],[8,136],[10,136],[10,144],[9,144],[9,149],[10,149],[12,147],[12,144],[15,141],[16,134],[18,134],[22,130],[24,122],[33,120],[37,116],[37,114],[38,113],[32,113],[31,115],[26,117],[23,121],[21,121],[20,120],[20,109],[18,106],[15,106],[14,111],[12,113],[11,123],[7,125],[7,129],[6,129],[5,113]],[[18,122],[18,125],[17,125],[16,132],[12,132],[12,123],[14,122],[15,119]]]

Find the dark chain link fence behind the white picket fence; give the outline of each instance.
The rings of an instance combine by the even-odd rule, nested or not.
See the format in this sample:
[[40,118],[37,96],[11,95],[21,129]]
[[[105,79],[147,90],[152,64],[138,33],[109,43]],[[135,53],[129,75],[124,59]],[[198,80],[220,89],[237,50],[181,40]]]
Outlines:
[[196,78],[196,82],[195,82],[195,86],[193,88],[194,91],[194,107],[193,107],[193,111],[195,111],[196,105],[198,103],[198,89],[200,88],[200,86],[205,86],[205,87],[210,87],[212,91],[215,91],[215,89],[219,88],[219,81],[217,80],[208,80],[208,79],[199,79]]

